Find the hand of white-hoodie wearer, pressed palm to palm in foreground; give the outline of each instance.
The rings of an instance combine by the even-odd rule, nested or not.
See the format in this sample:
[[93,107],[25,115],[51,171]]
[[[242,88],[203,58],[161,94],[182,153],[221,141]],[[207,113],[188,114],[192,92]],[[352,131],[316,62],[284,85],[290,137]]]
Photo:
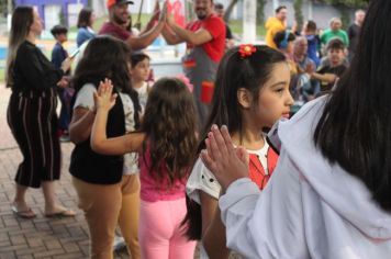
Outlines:
[[234,147],[226,126],[219,130],[213,125],[205,144],[206,150],[201,151],[201,159],[216,177],[223,191],[233,181],[248,177],[248,154],[243,147]]

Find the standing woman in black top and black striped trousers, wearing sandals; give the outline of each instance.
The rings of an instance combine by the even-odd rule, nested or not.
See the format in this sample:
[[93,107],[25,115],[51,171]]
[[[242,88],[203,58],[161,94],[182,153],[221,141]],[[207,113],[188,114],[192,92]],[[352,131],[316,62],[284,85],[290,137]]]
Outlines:
[[60,68],[56,68],[36,46],[42,30],[42,20],[32,7],[15,8],[5,70],[5,85],[12,90],[7,121],[23,155],[11,210],[24,218],[36,216],[26,204],[26,191],[40,187],[44,193],[45,216],[75,216],[75,212],[56,201],[54,182],[60,177],[56,88],[67,86],[63,77],[71,59],[66,58]]

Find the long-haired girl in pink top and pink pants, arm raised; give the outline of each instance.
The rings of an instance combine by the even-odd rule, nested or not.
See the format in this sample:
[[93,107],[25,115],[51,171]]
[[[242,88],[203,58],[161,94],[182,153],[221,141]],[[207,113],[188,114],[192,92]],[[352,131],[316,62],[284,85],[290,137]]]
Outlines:
[[181,225],[187,213],[185,185],[197,148],[192,94],[180,79],[158,80],[150,90],[141,130],[108,138],[108,114],[116,99],[112,89],[105,81],[94,95],[98,110],[91,148],[104,155],[139,154],[142,258],[192,259],[196,241],[188,240],[187,226]]

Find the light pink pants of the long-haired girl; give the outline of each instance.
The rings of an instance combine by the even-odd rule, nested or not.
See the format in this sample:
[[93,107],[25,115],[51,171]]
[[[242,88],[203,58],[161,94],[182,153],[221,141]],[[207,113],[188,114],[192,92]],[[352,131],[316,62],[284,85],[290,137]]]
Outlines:
[[145,259],[193,259],[196,241],[189,241],[181,222],[186,199],[141,201],[138,241]]

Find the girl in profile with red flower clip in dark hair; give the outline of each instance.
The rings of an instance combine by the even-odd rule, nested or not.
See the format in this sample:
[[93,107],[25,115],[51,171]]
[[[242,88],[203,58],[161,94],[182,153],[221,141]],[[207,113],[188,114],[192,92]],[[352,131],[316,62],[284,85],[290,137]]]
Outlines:
[[[282,53],[261,45],[231,48],[219,67],[212,110],[198,154],[205,148],[212,124],[227,125],[235,145],[252,154],[248,176],[262,190],[278,159],[264,131],[281,117],[289,117],[293,104],[289,85],[290,69]],[[189,223],[189,238],[202,241],[201,258],[230,256],[217,206],[220,191],[220,183],[198,158],[187,183],[190,201],[185,222]]]

